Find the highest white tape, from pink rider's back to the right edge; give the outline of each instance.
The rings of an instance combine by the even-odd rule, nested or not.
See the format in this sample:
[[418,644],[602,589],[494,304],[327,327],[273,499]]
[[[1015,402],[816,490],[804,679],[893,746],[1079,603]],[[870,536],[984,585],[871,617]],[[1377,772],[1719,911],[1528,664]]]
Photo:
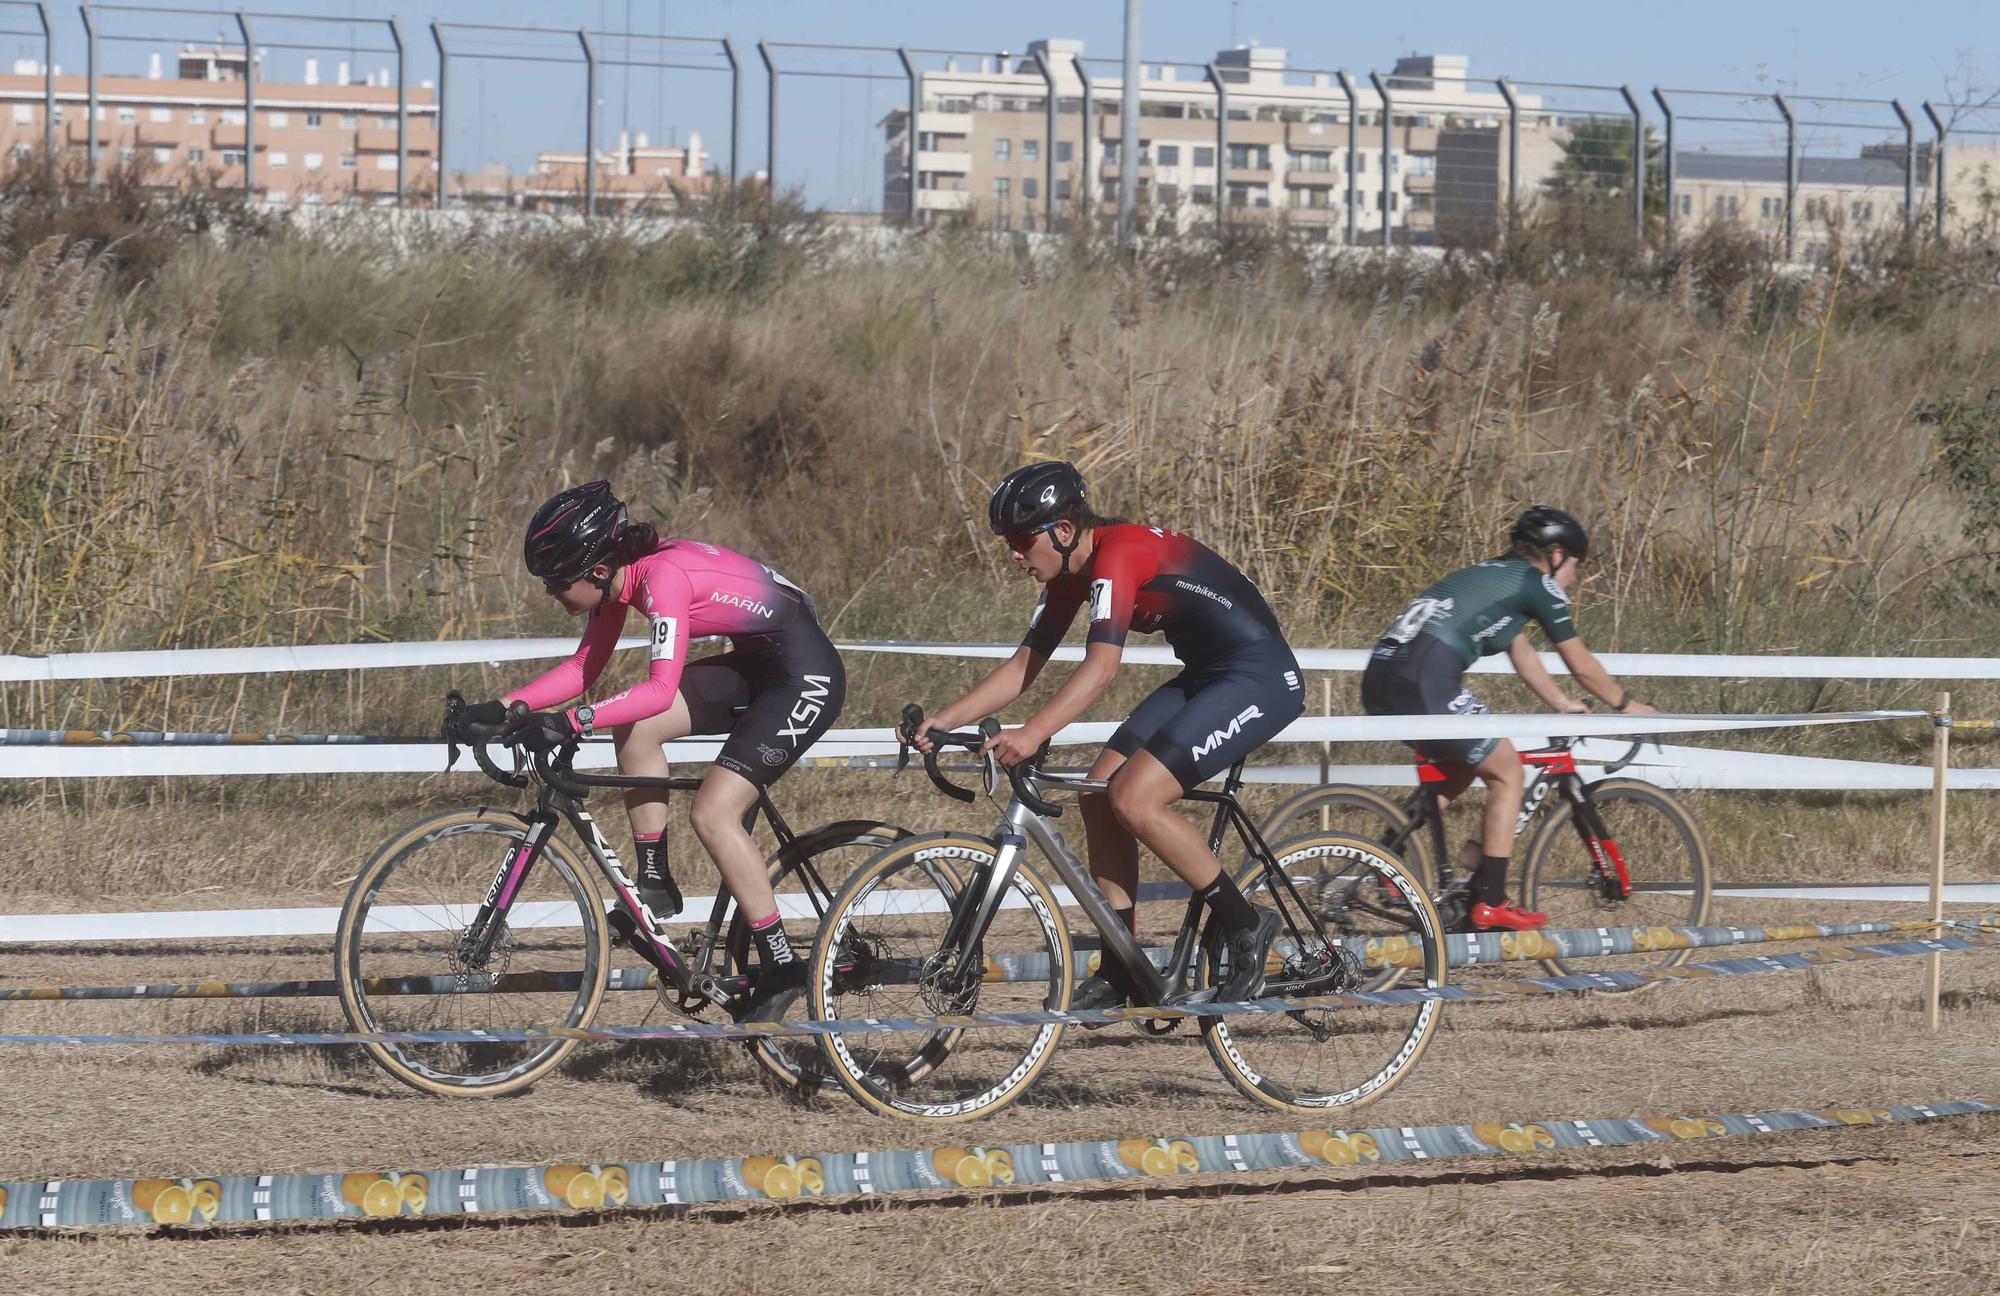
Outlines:
[[[942,658],[1010,658],[1020,644],[922,644],[904,640],[858,640],[842,652],[900,652]],[[1368,668],[1368,648],[1294,648],[1304,670],[1358,672]],[[1570,674],[1562,658],[1544,652],[1550,674]],[[2000,658],[1848,658],[1848,656],[1754,656],[1718,652],[1600,652],[1614,676],[1690,680],[2000,680]],[[1050,654],[1056,662],[1080,662],[1074,644]],[[1122,660],[1140,666],[1178,666],[1180,658],[1160,644],[1128,644]],[[1466,668],[1472,674],[1510,674],[1514,666],[1500,654]]]

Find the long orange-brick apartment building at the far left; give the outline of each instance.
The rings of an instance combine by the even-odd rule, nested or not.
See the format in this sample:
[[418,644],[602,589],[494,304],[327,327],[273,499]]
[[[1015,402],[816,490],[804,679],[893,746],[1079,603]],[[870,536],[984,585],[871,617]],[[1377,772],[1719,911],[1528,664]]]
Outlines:
[[[98,76],[98,174],[130,170],[142,182],[182,188],[196,180],[242,188],[254,136],[256,192],[290,202],[394,196],[398,96],[390,74],[354,82],[348,62],[320,80],[308,58],[298,84],[256,72],[256,130],[244,108],[244,74],[262,66],[246,50],[184,46],[174,76],[152,58],[146,76]],[[18,60],[0,74],[0,148],[26,160],[46,140],[46,68]],[[56,76],[56,148],[64,174],[82,176],[92,130],[88,78]],[[408,192],[436,190],[438,98],[430,82],[408,92]]]

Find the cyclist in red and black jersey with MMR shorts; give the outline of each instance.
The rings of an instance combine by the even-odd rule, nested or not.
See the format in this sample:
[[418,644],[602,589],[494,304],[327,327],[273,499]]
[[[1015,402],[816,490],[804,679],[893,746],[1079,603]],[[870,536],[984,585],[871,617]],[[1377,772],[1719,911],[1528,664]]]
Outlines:
[[[988,504],[988,522],[1006,538],[1014,564],[1042,584],[1042,600],[1014,656],[926,716],[916,746],[930,750],[928,728],[954,728],[1014,702],[1042,674],[1078,608],[1088,606],[1084,664],[1026,724],[986,744],[1004,764],[1020,764],[1096,702],[1118,674],[1126,634],[1164,634],[1182,672],[1138,704],[1090,770],[1090,778],[1110,780],[1106,792],[1084,796],[1080,806],[1090,872],[1132,926],[1144,842],[1202,896],[1220,926],[1230,974],[1216,998],[1256,998],[1278,916],[1244,898],[1174,802],[1270,742],[1304,710],[1298,662],[1278,618],[1248,576],[1192,536],[1100,518],[1070,464],[1028,464],[1008,474]],[[1110,1008],[1130,996],[1122,968],[1108,968],[1076,988],[1072,1008]]]

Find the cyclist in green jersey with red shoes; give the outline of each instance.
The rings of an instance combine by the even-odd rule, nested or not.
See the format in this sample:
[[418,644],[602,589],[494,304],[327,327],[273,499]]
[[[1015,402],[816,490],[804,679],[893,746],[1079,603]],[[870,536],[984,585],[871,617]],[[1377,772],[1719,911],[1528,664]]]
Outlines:
[[[1612,710],[1658,714],[1620,688],[1618,680],[1576,636],[1570,590],[1590,554],[1590,536],[1560,508],[1530,508],[1514,522],[1500,558],[1474,562],[1436,582],[1402,610],[1374,646],[1362,672],[1362,708],[1370,716],[1482,716],[1486,704],[1462,684],[1472,662],[1506,652],[1516,674],[1550,710],[1580,714],[1588,704],[1568,696],[1542,666],[1522,630],[1542,626],[1576,682]],[[1522,804],[1520,752],[1506,738],[1446,738],[1412,742],[1420,756],[1444,768],[1442,804],[1474,778],[1486,784],[1486,816],[1478,842],[1460,848],[1472,874],[1472,930],[1532,932],[1546,914],[1522,910],[1506,896],[1506,866]],[[1472,858],[1478,864],[1472,864]]]

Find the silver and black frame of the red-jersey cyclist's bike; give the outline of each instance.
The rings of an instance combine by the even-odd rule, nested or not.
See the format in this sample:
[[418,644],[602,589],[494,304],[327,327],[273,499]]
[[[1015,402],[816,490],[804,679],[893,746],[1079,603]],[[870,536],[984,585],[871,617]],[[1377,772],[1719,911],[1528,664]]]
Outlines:
[[[1020,778],[1034,790],[1066,788],[1072,792],[1104,792],[1110,788],[1110,782],[1106,780],[1044,774],[1040,770],[1022,770]],[[1182,800],[1208,802],[1216,806],[1216,818],[1208,830],[1210,852],[1218,852],[1222,848],[1224,826],[1234,826],[1244,848],[1262,860],[1266,870],[1276,872],[1284,880],[1284,890],[1292,892],[1292,900],[1298,902],[1300,912],[1316,924],[1318,916],[1312,914],[1304,898],[1298,896],[1298,890],[1292,880],[1284,876],[1284,870],[1276,868],[1270,856],[1270,846],[1266,846],[1264,838],[1256,830],[1256,824],[1250,822],[1250,816],[1236,802],[1236,790],[1240,786],[1242,764],[1236,764],[1230,768],[1222,792],[1194,788],[1192,792],[1186,792]],[[1124,964],[1134,986],[1148,1004],[1190,1004],[1212,994],[1184,990],[1200,946],[1200,896],[1188,896],[1188,908],[1182,916],[1180,932],[1174,936],[1174,950],[1168,958],[1166,970],[1162,972],[1152,966],[1144,946],[1140,946],[1138,938],[1132,936],[1124,920],[1120,920],[1112,910],[1110,900],[1104,898],[1104,892],[1098,890],[1096,880],[1090,876],[1090,868],[1076,856],[1070,844],[1056,830],[1054,822],[1024,804],[1020,796],[1008,800],[1000,828],[992,834],[992,862],[980,864],[972,878],[966,880],[966,890],[952,912],[952,924],[946,928],[944,940],[940,942],[940,952],[952,952],[958,956],[960,970],[982,968],[982,962],[972,954],[980,948],[994,916],[1000,912],[1000,902],[1006,898],[1006,890],[1014,882],[1014,874],[1020,868],[1022,852],[1030,842],[1034,842],[1062,882],[1070,888],[1078,908],[1082,908],[1090,918],[1090,924],[1098,928],[1104,952],[1114,954],[1118,962]],[[1324,938],[1324,932],[1316,934]]]

